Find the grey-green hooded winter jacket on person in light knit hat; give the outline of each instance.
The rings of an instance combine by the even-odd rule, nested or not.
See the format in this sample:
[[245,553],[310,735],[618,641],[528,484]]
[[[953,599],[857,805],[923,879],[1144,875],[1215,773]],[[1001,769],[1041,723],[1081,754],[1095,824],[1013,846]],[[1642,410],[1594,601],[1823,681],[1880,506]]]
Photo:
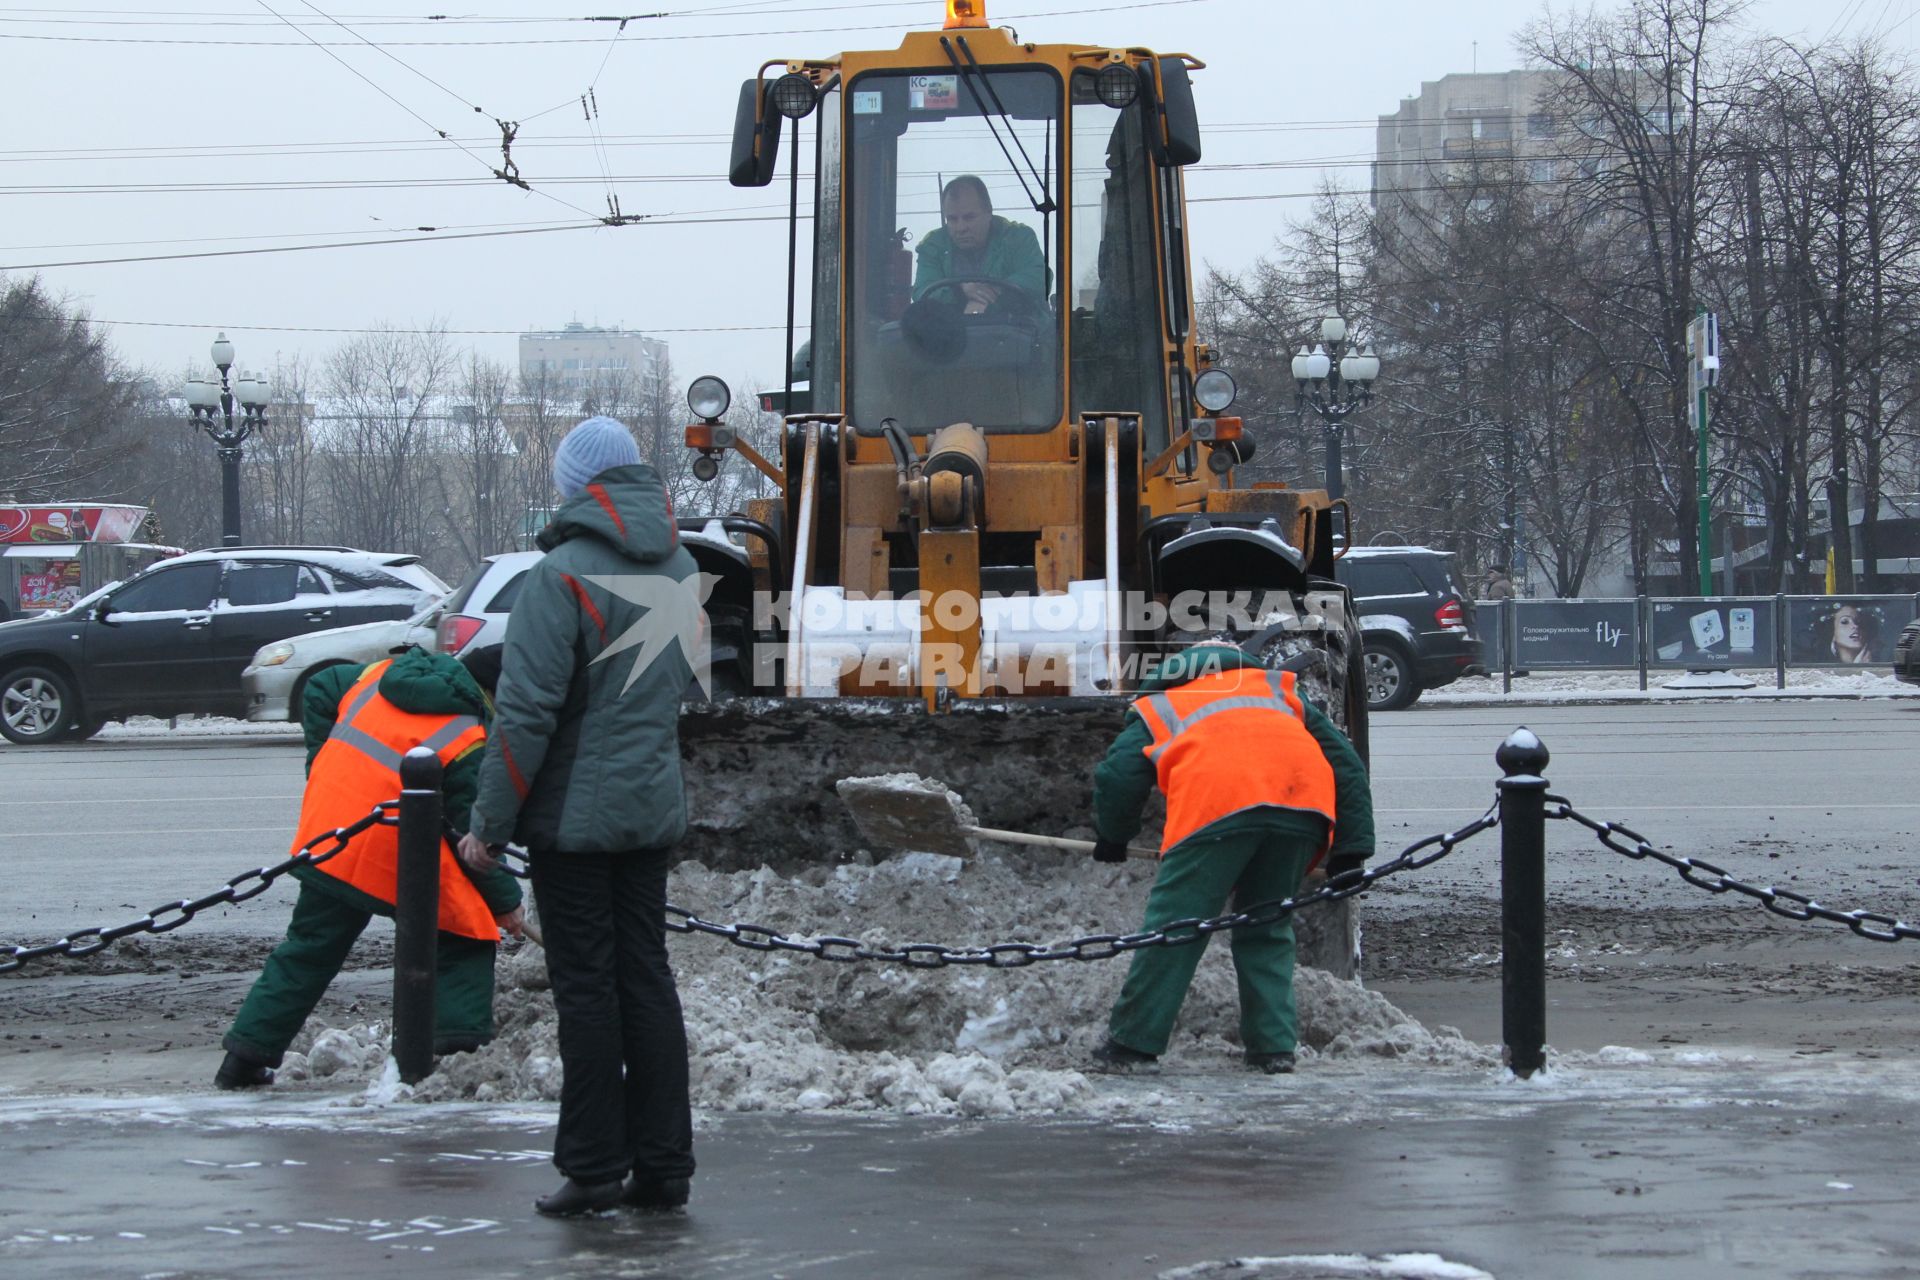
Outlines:
[[601,472],[540,547],[507,622],[470,829],[568,854],[670,846],[687,829],[680,699],[699,578],[659,472]]

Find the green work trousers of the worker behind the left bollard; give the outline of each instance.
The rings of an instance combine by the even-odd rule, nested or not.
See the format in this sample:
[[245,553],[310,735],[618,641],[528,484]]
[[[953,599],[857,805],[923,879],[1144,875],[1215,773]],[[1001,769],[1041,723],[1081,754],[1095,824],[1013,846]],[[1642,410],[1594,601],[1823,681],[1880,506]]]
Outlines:
[[[301,885],[286,940],[273,948],[253,990],[227,1032],[225,1048],[252,1063],[278,1067],[326,984],[372,912],[315,885]],[[434,1052],[472,1050],[493,1038],[493,942],[438,936]]]

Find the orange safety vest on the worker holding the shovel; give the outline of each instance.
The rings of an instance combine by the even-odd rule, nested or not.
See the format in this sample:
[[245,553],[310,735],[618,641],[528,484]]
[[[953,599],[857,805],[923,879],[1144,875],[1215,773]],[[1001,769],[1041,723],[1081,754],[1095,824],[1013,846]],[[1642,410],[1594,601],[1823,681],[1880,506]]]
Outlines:
[[1162,856],[1202,827],[1258,806],[1332,823],[1332,766],[1308,729],[1292,672],[1227,668],[1150,693],[1133,710],[1154,735],[1146,758],[1167,796]]

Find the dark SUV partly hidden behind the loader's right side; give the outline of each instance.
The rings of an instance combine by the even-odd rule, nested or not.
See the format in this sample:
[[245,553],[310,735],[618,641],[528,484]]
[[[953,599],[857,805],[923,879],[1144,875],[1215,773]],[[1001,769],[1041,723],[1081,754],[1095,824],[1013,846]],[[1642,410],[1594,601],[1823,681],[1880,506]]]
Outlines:
[[1452,685],[1480,666],[1473,601],[1453,555],[1428,547],[1356,547],[1334,562],[1354,593],[1367,654],[1367,710],[1411,706],[1421,689]]

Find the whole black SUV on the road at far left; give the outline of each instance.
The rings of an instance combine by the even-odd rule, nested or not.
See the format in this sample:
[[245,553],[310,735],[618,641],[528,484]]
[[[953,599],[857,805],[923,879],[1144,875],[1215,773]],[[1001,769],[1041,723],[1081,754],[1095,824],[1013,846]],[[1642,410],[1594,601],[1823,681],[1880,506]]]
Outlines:
[[127,716],[244,716],[263,645],[407,618],[447,593],[419,557],[351,547],[215,547],[148,568],[61,614],[0,624],[0,733],[92,737]]

